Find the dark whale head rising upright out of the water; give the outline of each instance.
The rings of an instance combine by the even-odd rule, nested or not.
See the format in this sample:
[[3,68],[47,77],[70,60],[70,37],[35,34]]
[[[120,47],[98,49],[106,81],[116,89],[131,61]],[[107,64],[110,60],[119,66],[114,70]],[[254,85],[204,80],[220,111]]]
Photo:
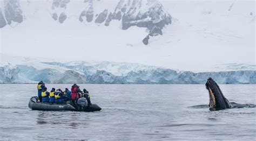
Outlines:
[[211,77],[207,79],[205,86],[209,92],[210,101],[208,106],[211,111],[231,108],[230,102],[228,102],[218,84]]

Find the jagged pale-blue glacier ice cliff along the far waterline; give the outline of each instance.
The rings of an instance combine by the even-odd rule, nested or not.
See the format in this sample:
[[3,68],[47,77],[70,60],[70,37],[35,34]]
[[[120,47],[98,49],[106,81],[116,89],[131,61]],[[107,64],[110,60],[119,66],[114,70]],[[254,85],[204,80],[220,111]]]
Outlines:
[[243,67],[238,64],[236,69],[232,64],[234,71],[193,73],[125,62],[58,62],[2,53],[0,58],[0,83],[35,83],[43,80],[46,83],[203,84],[208,77],[213,77],[218,83],[256,83],[256,65],[246,67],[246,64]]

